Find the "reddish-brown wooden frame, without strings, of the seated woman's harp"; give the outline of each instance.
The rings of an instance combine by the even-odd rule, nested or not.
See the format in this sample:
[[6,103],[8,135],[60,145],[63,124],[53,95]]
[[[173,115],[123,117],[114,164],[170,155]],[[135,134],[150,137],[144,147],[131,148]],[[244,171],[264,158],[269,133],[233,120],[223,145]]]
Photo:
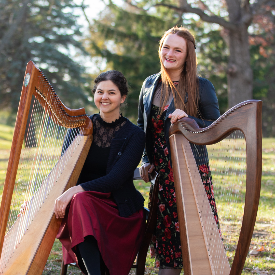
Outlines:
[[[64,185],[57,189],[61,194],[76,184],[92,143],[93,125],[92,121],[86,115],[85,109],[81,108],[74,110],[67,108],[58,98],[45,75],[43,75],[32,61],[29,61],[27,64],[25,77],[27,74],[29,74],[29,82],[26,86],[24,85],[25,82],[23,83],[0,207],[0,253],[3,248],[7,220],[32,96],[35,96],[44,109],[48,108],[48,110],[50,110],[50,113],[48,114],[52,120],[54,119],[55,122],[57,122],[57,125],[66,128],[79,127],[84,136],[83,142],[78,151],[78,156],[76,156],[77,158],[74,160],[74,165],[68,168],[70,169],[70,171],[68,171],[68,180],[64,182]],[[43,85],[41,83],[43,83]],[[43,89],[39,89],[39,87],[42,87]],[[52,198],[49,198],[49,202],[51,202],[50,205],[54,204],[54,200],[58,196],[53,194]],[[62,221],[61,218],[55,218],[53,215],[53,208],[48,210],[48,212],[49,217],[42,217],[42,219],[46,219],[46,221],[49,222],[46,224],[46,229],[38,232],[41,234],[40,240],[38,243],[34,243],[32,247],[29,246],[26,248],[21,246],[21,257],[18,256],[15,262],[10,260],[11,266],[9,266],[8,271],[6,271],[8,274],[42,274]],[[38,223],[39,220],[37,221],[37,224]],[[34,230],[38,231],[37,227],[34,226]],[[32,254],[33,256],[29,257],[29,254]]]

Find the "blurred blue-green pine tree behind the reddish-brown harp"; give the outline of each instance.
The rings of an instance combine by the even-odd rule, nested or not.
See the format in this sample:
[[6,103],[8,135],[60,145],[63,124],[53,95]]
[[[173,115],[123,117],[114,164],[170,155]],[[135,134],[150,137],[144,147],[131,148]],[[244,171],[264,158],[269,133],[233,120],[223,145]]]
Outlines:
[[[84,68],[68,55],[87,54],[68,0],[0,0],[0,107],[9,107],[13,123],[27,62],[42,69],[64,104],[87,104]],[[86,91],[86,94],[85,94]]]

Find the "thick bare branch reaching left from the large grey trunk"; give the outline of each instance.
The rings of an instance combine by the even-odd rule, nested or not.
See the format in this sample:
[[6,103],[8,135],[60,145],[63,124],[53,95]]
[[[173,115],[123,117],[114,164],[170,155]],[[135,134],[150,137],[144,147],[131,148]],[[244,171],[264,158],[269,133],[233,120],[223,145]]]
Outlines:
[[174,6],[174,5],[168,5],[168,4],[161,4],[161,3],[153,5],[153,7],[156,7],[156,6],[163,6],[163,7],[178,10],[178,11],[181,11],[181,12],[196,13],[197,15],[200,16],[200,18],[203,21],[210,22],[210,23],[216,23],[216,24],[219,24],[219,25],[225,27],[226,29],[230,29],[230,30],[233,30],[233,31],[237,29],[237,25],[235,25],[233,23],[230,23],[230,22],[227,22],[224,19],[222,19],[221,17],[218,17],[216,15],[209,16],[209,15],[205,14],[202,10],[192,8],[188,4],[181,5],[181,7],[177,7],[177,6]]

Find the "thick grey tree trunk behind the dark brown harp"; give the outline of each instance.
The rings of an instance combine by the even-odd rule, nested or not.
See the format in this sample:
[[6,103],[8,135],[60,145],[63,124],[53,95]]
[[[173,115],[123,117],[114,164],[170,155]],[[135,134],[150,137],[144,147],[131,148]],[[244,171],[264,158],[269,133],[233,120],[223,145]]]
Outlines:
[[229,31],[230,57],[227,69],[228,107],[253,98],[247,26]]

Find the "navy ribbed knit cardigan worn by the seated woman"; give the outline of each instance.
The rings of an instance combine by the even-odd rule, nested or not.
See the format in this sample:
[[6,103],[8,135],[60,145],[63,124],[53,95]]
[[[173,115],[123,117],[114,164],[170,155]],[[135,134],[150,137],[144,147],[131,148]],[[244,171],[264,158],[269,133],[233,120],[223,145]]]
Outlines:
[[[72,133],[72,129],[68,130],[64,144],[70,144],[68,141],[74,138]],[[85,191],[111,192],[122,217],[132,215],[144,205],[144,198],[133,183],[134,170],[141,160],[144,144],[144,131],[127,119],[112,139],[106,176],[80,184]]]

